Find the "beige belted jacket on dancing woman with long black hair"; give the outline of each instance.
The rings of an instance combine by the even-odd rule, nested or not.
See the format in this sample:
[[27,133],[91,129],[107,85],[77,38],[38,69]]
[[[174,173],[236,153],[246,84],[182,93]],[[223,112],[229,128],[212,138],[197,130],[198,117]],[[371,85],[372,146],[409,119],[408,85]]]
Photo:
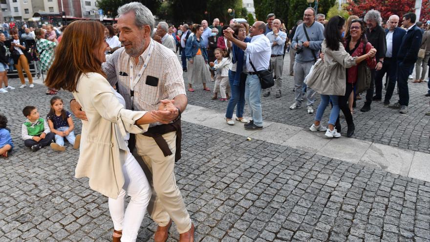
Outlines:
[[318,60],[305,78],[305,83],[312,90],[324,95],[345,95],[346,69],[355,66],[355,59],[346,52],[344,44],[339,42],[339,50],[327,47],[325,40],[321,45],[324,60]]

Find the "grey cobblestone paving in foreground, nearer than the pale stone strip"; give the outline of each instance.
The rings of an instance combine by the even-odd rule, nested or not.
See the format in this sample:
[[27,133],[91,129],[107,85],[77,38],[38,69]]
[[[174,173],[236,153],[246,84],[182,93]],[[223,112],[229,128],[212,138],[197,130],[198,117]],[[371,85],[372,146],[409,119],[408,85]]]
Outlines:
[[[78,152],[23,146],[21,109],[35,105],[44,116],[51,97],[44,91],[36,85],[0,95],[16,145],[0,158],[0,238],[109,241],[107,198],[73,177]],[[60,96],[68,106],[70,93]],[[175,173],[196,241],[430,242],[429,182],[186,122]],[[138,241],[152,241],[155,228],[145,217]]]

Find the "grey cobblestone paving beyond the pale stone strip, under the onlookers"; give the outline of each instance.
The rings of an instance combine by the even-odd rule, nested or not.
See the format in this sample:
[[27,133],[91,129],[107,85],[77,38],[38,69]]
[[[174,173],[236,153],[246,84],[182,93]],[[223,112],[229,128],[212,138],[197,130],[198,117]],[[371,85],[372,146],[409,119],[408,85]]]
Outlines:
[[[289,110],[294,102],[294,77],[289,75],[289,56],[285,55],[283,70],[283,87],[282,97],[275,98],[275,93],[269,97],[261,97],[263,119],[283,124],[289,124],[299,127],[310,127],[315,118],[315,114],[307,114],[306,108],[299,110]],[[415,74],[413,74],[415,76]],[[184,79],[187,83],[187,73],[184,72]],[[384,79],[385,80],[385,79]],[[400,147],[413,151],[430,153],[430,116],[425,116],[429,111],[429,97],[427,93],[427,83],[410,83],[409,80],[409,112],[400,114],[398,110],[392,110],[383,105],[383,102],[373,102],[369,112],[361,112],[365,102],[366,93],[361,96],[363,100],[357,101],[357,108],[354,109],[355,134],[357,139],[372,141],[380,144]],[[385,82],[385,81],[384,81]],[[208,84],[213,89],[214,82]],[[203,106],[206,108],[226,110],[227,102],[211,100],[212,93],[202,89],[201,85],[196,85],[195,92],[187,91],[190,104]],[[316,111],[320,103],[319,95],[314,104]],[[385,90],[383,90],[383,97]],[[391,103],[397,102],[398,95],[394,91]],[[328,121],[329,111],[325,111],[323,123]],[[245,116],[249,116],[248,107],[245,108]],[[341,124],[346,128],[343,114],[341,112]],[[346,136],[346,129],[342,129],[343,136]]]

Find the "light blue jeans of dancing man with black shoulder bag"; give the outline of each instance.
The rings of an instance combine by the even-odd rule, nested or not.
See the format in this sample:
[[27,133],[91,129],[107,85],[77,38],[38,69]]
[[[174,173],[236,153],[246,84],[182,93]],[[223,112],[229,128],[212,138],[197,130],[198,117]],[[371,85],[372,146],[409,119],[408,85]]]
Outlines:
[[[245,101],[249,104],[251,110],[251,117],[254,124],[263,126],[263,116],[261,111],[261,84],[257,75],[250,75],[246,77],[245,82]],[[335,120],[336,121],[336,120]]]

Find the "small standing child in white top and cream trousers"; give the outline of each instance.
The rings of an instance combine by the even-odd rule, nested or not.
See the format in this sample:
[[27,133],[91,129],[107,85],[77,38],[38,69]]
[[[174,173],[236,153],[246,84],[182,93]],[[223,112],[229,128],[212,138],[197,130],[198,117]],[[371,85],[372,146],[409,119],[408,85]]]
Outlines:
[[215,87],[214,87],[214,96],[212,100],[218,98],[218,90],[221,93],[221,98],[219,101],[227,101],[229,99],[228,92],[230,89],[229,79],[228,79],[228,71],[230,66],[230,58],[223,57],[224,51],[220,48],[216,48],[214,50],[215,54],[215,62],[210,62],[209,66],[215,69],[216,77],[215,77]]

